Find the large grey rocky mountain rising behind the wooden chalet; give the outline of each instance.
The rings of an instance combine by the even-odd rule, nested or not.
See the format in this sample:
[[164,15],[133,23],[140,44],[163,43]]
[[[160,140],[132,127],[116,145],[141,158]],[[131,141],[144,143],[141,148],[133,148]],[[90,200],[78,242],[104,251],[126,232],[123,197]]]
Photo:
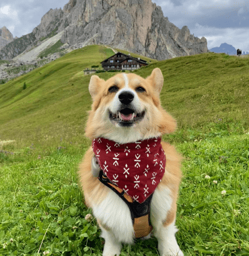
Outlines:
[[[69,46],[108,44],[158,60],[208,51],[204,37],[193,36],[187,26],[174,26],[151,0],[70,0],[63,9],[50,9],[42,17],[31,33],[33,44],[59,32]],[[12,47],[4,57],[0,51],[0,59],[20,51]]]

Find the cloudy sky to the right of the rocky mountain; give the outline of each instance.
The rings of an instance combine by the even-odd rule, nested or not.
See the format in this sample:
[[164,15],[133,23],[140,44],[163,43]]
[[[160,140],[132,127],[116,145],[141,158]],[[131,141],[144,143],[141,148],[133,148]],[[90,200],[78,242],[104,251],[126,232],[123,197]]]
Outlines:
[[249,51],[249,1],[246,0],[152,0],[162,6],[170,22],[188,26],[194,36],[207,38],[208,48],[226,42]]

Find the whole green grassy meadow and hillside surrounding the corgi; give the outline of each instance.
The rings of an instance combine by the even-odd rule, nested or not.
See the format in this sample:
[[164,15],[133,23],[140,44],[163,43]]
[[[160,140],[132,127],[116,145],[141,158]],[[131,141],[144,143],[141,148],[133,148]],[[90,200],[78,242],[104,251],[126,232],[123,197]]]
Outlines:
[[[86,46],[0,85],[0,256],[102,255],[77,168],[91,145],[83,69],[113,54]],[[162,105],[178,121],[163,139],[184,156],[178,244],[184,255],[249,255],[249,58],[151,60],[134,73],[155,67],[164,74]],[[137,240],[121,255],[158,255],[157,241]]]

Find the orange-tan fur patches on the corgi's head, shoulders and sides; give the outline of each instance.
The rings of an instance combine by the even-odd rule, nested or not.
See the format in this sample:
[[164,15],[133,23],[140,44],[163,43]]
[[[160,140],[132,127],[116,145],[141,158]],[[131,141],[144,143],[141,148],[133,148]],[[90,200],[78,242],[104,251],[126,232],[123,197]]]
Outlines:
[[[93,98],[92,110],[90,110],[89,118],[85,129],[85,135],[90,139],[94,137],[112,134],[112,125],[106,125],[104,115],[106,113],[106,106],[113,100],[114,94],[108,93],[110,86],[117,86],[119,90],[125,87],[125,81],[123,74],[115,75],[107,81],[100,79],[98,76],[93,75],[90,81],[90,94]],[[129,79],[129,88],[135,90],[137,86],[143,86],[146,92],[139,94],[139,100],[147,108],[147,119],[143,125],[137,125],[139,133],[145,137],[149,137],[153,134],[172,133],[176,130],[175,119],[164,110],[159,101],[159,93],[162,90],[164,79],[159,69],[154,69],[149,77],[143,79],[135,74],[127,74]],[[162,142],[164,152],[166,154],[166,172],[159,183],[158,189],[168,187],[172,191],[172,208],[168,215],[165,216],[165,220],[162,223],[164,226],[168,226],[174,222],[176,218],[176,199],[178,196],[178,187],[182,173],[180,171],[180,162],[182,157],[174,146],[170,146],[169,143]],[[100,203],[106,194],[108,193],[108,187],[104,186],[98,178],[92,176],[91,161],[94,153],[92,148],[87,150],[83,158],[83,162],[79,166],[79,177],[81,187],[85,196],[85,203],[88,207],[92,207],[92,204]],[[108,230],[105,224],[100,223],[103,228]]]

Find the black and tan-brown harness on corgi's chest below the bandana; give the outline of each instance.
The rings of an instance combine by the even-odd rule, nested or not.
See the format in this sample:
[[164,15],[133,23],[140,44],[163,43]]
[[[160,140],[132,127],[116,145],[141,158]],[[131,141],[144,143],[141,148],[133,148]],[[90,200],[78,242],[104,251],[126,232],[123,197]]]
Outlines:
[[141,238],[147,236],[153,229],[150,222],[150,205],[153,193],[143,203],[138,203],[125,193],[125,191],[120,189],[120,187],[114,185],[103,173],[103,170],[100,170],[99,180],[106,185],[106,187],[112,189],[129,207],[135,237]]

